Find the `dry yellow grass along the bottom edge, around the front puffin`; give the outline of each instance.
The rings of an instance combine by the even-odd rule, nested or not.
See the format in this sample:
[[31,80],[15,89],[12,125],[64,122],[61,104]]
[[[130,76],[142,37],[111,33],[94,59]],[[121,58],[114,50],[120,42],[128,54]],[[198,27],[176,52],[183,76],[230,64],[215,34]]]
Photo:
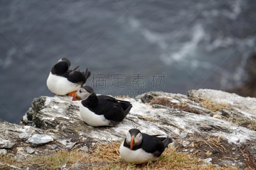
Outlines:
[[[214,165],[206,165],[201,160],[187,153],[177,152],[174,147],[167,148],[156,162],[149,161],[146,165],[133,165],[125,162],[119,155],[120,142],[99,144],[88,154],[84,151],[61,150],[45,156],[29,157],[26,161],[17,161],[12,156],[0,155],[1,169],[10,169],[13,165],[26,169],[40,167],[40,169],[60,169],[66,164],[66,169],[219,169]],[[204,164],[204,165],[203,165]],[[221,169],[237,170],[236,167],[223,167]]]

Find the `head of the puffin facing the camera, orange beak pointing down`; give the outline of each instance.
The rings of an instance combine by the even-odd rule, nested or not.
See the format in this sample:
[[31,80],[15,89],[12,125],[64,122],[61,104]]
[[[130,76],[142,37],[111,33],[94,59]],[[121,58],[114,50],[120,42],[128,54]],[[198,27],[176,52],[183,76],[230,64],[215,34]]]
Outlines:
[[142,134],[138,129],[130,129],[126,135],[126,142],[131,147],[132,150],[133,146],[137,146],[142,142]]

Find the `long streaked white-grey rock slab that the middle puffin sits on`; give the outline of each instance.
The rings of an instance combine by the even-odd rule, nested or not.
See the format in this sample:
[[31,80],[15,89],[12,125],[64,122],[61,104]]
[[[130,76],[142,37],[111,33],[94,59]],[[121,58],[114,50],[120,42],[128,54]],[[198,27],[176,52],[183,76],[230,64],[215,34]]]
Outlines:
[[[215,91],[212,93],[214,92]],[[180,108],[181,110],[172,108],[152,108],[149,104],[141,103],[141,99],[145,102],[146,100],[149,101],[152,97],[165,97],[172,103],[181,103],[181,106],[187,105],[189,107],[183,108],[183,110],[185,110],[183,111],[182,108]],[[33,105],[35,102],[37,105],[41,103],[43,106],[37,107],[38,110],[35,111],[34,123],[36,127],[41,129],[54,129],[55,132],[59,132],[54,133],[54,135],[58,135],[58,137],[54,138],[60,140],[70,138],[70,136],[74,136],[74,134],[77,135],[77,132],[79,132],[80,136],[77,137],[79,139],[92,138],[97,141],[118,141],[124,139],[127,131],[134,127],[140,128],[143,133],[151,135],[165,134],[170,137],[172,135],[179,135],[179,132],[182,131],[186,131],[187,134],[191,135],[195,132],[200,133],[202,137],[222,135],[224,138],[228,139],[228,142],[235,144],[238,139],[240,139],[240,143],[247,140],[256,140],[254,131],[211,117],[211,115],[215,115],[214,112],[202,107],[201,104],[191,100],[191,98],[186,95],[148,92],[136,97],[136,100],[139,102],[134,99],[125,100],[130,101],[133,105],[130,113],[121,123],[114,127],[107,128],[108,130],[105,127],[94,128],[85,124],[79,114],[80,102],[71,101],[70,96],[35,99]],[[186,110],[191,112],[187,112]],[[207,124],[212,127],[212,129],[202,130],[199,128],[198,124]],[[187,135],[181,133],[180,137],[182,136]]]

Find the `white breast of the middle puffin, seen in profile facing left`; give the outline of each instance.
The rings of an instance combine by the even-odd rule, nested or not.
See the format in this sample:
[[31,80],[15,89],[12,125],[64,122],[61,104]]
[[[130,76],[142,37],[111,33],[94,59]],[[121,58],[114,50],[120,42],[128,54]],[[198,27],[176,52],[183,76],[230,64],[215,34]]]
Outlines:
[[80,115],[84,122],[91,126],[109,126],[110,121],[107,120],[104,115],[96,115],[87,107],[84,107],[82,103],[79,106]]

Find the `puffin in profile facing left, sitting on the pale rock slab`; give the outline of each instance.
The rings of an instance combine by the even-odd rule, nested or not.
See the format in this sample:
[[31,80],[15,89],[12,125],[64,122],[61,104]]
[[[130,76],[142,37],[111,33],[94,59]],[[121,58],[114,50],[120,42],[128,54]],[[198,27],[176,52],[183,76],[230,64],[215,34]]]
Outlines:
[[132,108],[129,101],[106,95],[97,96],[90,86],[78,89],[72,100],[82,100],[79,106],[81,118],[93,127],[115,126]]

